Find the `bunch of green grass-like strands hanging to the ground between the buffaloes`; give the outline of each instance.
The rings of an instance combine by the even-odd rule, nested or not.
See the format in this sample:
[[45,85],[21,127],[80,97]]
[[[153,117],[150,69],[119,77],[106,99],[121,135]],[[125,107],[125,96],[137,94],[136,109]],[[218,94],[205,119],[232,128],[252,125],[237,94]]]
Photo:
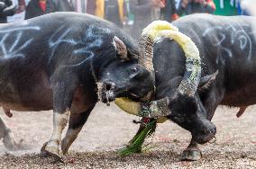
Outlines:
[[[145,124],[144,129],[138,132],[131,141],[129,145],[118,151],[120,156],[129,156],[133,153],[138,153],[142,151],[142,144],[146,138],[151,137],[155,132],[157,126],[157,120],[151,120],[149,123]],[[148,145],[144,146],[147,147]]]

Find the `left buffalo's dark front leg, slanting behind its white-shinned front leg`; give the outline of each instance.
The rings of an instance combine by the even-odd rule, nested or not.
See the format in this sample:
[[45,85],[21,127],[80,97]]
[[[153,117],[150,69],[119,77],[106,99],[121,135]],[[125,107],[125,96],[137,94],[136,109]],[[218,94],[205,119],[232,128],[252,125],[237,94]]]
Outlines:
[[63,155],[65,155],[71,144],[74,142],[76,138],[78,138],[78,134],[83,128],[84,124],[87,122],[87,119],[90,115],[90,112],[95,107],[92,106],[90,109],[88,109],[85,112],[82,113],[71,113],[69,117],[69,129],[66,133],[65,138],[62,139],[61,142],[61,150]]

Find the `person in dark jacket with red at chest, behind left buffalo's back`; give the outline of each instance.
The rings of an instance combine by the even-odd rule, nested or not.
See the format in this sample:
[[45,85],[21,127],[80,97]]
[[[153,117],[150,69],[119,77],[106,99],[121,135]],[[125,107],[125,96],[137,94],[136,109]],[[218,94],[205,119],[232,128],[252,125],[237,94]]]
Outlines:
[[45,13],[55,13],[58,11],[75,10],[67,0],[31,0],[26,8],[25,20]]

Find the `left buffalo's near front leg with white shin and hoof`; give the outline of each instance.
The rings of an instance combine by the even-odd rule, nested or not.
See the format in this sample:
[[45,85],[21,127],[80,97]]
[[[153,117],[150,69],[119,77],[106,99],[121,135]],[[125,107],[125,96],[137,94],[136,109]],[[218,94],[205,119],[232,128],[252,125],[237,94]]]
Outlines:
[[[68,81],[69,78],[66,79]],[[41,148],[43,155],[52,155],[57,158],[61,155],[59,151],[61,134],[68,123],[69,110],[77,86],[67,81],[64,79],[64,81],[53,84],[53,131],[49,140]]]

